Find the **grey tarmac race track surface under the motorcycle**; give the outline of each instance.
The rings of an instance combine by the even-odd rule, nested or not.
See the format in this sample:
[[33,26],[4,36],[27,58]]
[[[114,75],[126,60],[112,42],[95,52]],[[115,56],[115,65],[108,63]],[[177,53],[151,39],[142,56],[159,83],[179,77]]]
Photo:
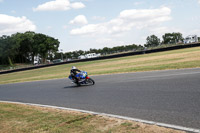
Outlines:
[[200,129],[200,68],[91,76],[0,85],[0,100],[128,116]]

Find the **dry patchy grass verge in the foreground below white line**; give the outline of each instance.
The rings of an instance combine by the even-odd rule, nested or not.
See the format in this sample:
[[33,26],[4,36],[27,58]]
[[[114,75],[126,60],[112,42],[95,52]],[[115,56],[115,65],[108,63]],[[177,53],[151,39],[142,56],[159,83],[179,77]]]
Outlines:
[[183,133],[105,116],[0,103],[1,133]]

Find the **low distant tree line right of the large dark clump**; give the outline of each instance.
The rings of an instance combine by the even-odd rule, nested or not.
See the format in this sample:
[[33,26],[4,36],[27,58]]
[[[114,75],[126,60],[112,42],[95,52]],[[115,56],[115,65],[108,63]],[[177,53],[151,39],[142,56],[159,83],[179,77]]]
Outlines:
[[[63,53],[65,58],[70,59],[77,59],[80,55],[86,55],[88,53],[100,53],[101,55],[107,55],[107,54],[115,54],[120,52],[127,52],[127,51],[136,51],[136,50],[144,50],[148,47],[157,47],[159,45],[165,45],[165,44],[176,44],[176,43],[182,43],[183,37],[181,33],[165,33],[162,36],[163,41],[161,41],[160,38],[158,38],[156,35],[151,35],[146,38],[146,44],[144,46],[142,45],[126,45],[126,46],[117,46],[113,48],[104,47],[102,49],[90,49],[88,51],[78,50],[73,52],[67,52]],[[57,58],[61,58],[61,55],[58,53],[56,55]]]

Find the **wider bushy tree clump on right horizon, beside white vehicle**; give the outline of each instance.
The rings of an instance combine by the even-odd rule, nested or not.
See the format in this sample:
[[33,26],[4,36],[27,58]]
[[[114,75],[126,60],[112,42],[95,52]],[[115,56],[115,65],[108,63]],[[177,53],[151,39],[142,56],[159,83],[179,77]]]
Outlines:
[[176,44],[179,42],[183,42],[183,36],[181,33],[173,32],[173,33],[165,33],[165,35],[162,36],[163,38],[163,44]]

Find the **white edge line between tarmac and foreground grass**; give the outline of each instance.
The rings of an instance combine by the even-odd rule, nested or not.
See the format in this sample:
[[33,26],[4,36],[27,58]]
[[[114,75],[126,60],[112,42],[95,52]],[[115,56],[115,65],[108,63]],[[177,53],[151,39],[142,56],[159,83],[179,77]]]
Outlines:
[[178,125],[172,125],[172,124],[165,124],[165,123],[159,123],[159,122],[154,122],[154,121],[142,120],[142,119],[127,117],[127,116],[106,114],[106,113],[93,112],[93,111],[80,110],[80,109],[73,109],[73,108],[66,108],[66,107],[59,107],[59,106],[52,106],[52,105],[34,104],[34,103],[23,103],[23,102],[1,101],[1,100],[0,100],[0,102],[2,102],[2,103],[22,104],[22,105],[31,105],[31,106],[39,106],[39,107],[48,107],[48,108],[62,109],[62,110],[69,110],[69,111],[77,111],[77,112],[89,113],[89,114],[93,114],[93,115],[102,115],[102,116],[114,117],[114,118],[119,118],[119,119],[124,119],[124,120],[131,120],[131,121],[136,121],[136,122],[141,122],[141,123],[146,123],[146,124],[151,124],[151,125],[157,125],[157,126],[166,127],[166,128],[172,128],[172,129],[187,131],[187,132],[200,133],[200,129],[194,129],[194,128],[188,128],[188,127],[183,127],[183,126],[178,126]]

